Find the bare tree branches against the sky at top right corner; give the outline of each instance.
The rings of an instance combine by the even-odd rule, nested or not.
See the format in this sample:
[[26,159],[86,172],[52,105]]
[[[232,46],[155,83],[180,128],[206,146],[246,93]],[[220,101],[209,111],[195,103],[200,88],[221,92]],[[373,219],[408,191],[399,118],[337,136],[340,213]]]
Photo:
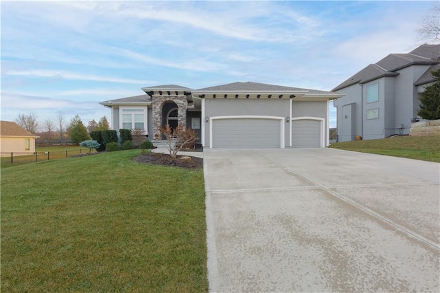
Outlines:
[[417,30],[423,41],[440,41],[440,1],[434,1],[432,8],[420,20],[420,28]]

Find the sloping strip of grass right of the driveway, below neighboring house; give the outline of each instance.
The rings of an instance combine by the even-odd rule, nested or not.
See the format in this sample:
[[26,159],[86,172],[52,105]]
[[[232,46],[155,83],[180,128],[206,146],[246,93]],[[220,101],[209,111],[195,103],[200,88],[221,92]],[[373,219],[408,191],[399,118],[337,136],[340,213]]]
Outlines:
[[440,162],[440,135],[428,137],[396,136],[382,140],[333,142],[329,147],[362,153],[393,155],[430,162]]

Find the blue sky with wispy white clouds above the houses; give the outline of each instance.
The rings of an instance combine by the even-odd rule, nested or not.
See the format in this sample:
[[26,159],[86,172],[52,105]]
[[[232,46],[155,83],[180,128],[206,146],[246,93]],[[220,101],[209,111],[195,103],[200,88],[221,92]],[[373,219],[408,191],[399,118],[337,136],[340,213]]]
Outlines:
[[[1,1],[1,120],[63,111],[141,87],[252,81],[331,90],[421,43],[430,1]],[[331,108],[331,127],[336,126]]]

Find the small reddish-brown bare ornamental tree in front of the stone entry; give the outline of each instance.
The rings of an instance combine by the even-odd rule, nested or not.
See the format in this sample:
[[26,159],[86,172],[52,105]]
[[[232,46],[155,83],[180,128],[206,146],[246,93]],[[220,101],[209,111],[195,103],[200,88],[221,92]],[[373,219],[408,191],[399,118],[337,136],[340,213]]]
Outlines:
[[183,125],[179,125],[173,130],[168,124],[165,128],[157,127],[157,130],[159,130],[161,135],[165,136],[166,142],[164,142],[164,145],[173,158],[176,158],[177,153],[184,149],[186,145],[192,144],[197,140],[195,131],[187,129]]

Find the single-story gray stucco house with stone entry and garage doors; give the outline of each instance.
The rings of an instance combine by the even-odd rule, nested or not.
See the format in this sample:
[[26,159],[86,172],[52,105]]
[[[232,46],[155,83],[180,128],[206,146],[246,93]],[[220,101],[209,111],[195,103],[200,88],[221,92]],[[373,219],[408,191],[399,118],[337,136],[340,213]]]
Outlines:
[[113,129],[142,128],[148,140],[157,127],[185,125],[208,148],[325,147],[329,100],[341,94],[263,83],[230,83],[190,89],[143,87],[145,94],[107,100]]

